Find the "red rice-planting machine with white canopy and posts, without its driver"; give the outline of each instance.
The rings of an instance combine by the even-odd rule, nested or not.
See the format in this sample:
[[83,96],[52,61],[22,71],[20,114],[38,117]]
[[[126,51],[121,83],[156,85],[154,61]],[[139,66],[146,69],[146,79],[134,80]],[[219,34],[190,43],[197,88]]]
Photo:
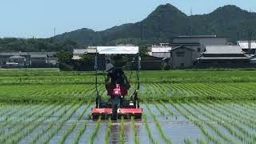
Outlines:
[[[133,61],[136,63],[136,76],[137,76],[137,89],[134,90],[132,94],[130,94],[130,98],[128,97],[128,89],[122,84],[116,82],[114,86],[110,86],[106,88],[108,100],[103,101],[102,96],[98,93],[98,54],[133,54],[134,59],[137,61]],[[138,90],[140,87],[139,82],[139,70],[140,70],[140,56],[138,46],[98,46],[96,48],[95,55],[95,89],[96,89],[96,106],[91,109],[93,119],[97,119],[101,116],[101,118],[112,118],[119,119],[123,118],[142,118],[142,108],[139,107],[138,103]],[[114,68],[117,69],[117,68]],[[132,70],[132,69],[131,69]],[[132,74],[132,71],[131,71]]]

